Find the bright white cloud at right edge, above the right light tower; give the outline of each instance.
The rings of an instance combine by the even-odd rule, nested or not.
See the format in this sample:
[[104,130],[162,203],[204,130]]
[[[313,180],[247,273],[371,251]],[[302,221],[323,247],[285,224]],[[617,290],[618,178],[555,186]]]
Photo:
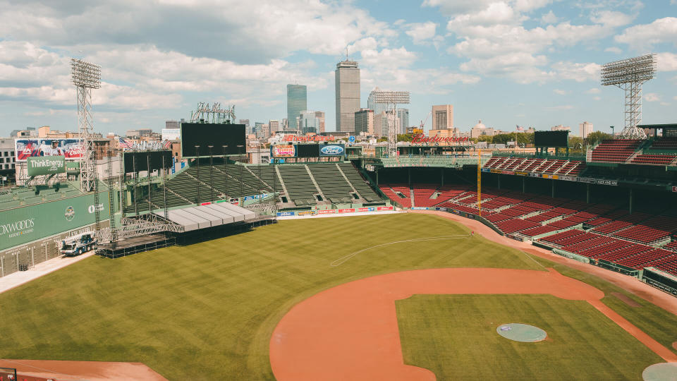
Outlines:
[[614,37],[614,40],[628,44],[633,49],[652,49],[652,45],[664,42],[677,46],[677,18],[659,18],[650,24],[632,26]]

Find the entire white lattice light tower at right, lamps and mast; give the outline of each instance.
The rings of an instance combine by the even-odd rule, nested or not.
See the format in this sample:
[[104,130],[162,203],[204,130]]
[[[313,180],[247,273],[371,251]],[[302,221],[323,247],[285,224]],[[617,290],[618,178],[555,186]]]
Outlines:
[[637,125],[642,121],[642,84],[654,78],[654,73],[655,54],[604,63],[602,66],[602,85],[615,85],[626,92],[626,124],[621,138],[647,138],[647,133]]

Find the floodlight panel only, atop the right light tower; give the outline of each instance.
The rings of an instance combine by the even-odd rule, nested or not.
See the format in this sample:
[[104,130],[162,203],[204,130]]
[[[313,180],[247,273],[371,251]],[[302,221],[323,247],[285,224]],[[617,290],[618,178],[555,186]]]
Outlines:
[[654,78],[654,73],[656,73],[654,54],[621,59],[602,65],[602,85],[645,82]]

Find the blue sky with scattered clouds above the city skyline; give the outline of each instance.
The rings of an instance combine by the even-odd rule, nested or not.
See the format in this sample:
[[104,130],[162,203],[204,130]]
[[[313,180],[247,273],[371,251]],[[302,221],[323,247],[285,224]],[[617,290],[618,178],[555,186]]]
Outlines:
[[[603,63],[657,54],[643,123],[677,122],[677,0],[0,0],[0,136],[77,129],[70,59],[102,66],[94,130],[159,131],[198,102],[237,119],[286,118],[286,84],[334,131],[334,70],[358,61],[374,87],[411,92],[410,124],[453,104],[453,124],[514,131],[623,126]],[[427,119],[425,129],[432,126]]]

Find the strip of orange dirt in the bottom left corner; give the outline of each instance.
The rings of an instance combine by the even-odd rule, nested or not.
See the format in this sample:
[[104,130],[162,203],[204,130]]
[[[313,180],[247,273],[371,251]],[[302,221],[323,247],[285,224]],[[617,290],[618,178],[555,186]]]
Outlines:
[[15,368],[21,375],[52,380],[149,380],[166,378],[142,363],[109,363],[104,361],[4,360],[0,367]]

